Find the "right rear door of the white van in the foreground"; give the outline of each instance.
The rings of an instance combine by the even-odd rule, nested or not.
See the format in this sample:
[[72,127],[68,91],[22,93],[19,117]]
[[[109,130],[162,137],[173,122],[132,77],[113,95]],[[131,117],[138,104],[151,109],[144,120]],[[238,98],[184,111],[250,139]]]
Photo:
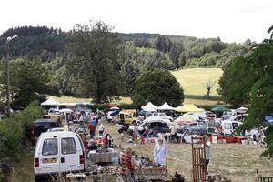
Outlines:
[[60,137],[60,172],[80,171],[82,148],[76,135],[62,134]]

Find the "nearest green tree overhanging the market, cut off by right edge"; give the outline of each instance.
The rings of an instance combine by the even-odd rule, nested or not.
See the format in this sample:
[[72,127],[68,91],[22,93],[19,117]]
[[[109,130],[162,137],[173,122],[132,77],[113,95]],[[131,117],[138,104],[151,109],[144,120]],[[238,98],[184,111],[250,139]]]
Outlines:
[[[273,40],[268,39],[258,45],[248,60],[255,68],[253,74],[258,78],[251,88],[248,117],[243,125],[249,130],[261,126],[265,116],[273,115]],[[265,135],[268,147],[263,156],[273,157],[273,126],[268,126]]]

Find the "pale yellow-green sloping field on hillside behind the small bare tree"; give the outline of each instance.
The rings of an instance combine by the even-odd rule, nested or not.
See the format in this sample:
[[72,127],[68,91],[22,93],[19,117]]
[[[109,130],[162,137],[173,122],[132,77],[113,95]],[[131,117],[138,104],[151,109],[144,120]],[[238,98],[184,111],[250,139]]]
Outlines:
[[207,93],[206,81],[215,81],[211,96],[218,96],[217,83],[223,71],[220,68],[190,68],[171,72],[177,78],[180,86],[184,88],[184,94],[204,96]]

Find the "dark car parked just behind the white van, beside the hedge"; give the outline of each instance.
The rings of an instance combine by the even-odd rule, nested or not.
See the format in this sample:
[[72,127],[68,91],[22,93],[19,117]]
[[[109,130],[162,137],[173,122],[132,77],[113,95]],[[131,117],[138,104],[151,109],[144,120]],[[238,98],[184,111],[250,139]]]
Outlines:
[[33,122],[32,126],[32,142],[35,145],[38,137],[41,133],[46,132],[48,129],[60,127],[60,124],[57,120],[54,119],[37,119]]

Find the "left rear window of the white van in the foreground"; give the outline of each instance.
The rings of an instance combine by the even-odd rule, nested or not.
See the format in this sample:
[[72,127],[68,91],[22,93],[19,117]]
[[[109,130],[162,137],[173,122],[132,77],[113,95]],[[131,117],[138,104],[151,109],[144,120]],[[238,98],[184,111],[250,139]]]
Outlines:
[[42,150],[43,156],[58,154],[58,141],[56,138],[45,139]]

